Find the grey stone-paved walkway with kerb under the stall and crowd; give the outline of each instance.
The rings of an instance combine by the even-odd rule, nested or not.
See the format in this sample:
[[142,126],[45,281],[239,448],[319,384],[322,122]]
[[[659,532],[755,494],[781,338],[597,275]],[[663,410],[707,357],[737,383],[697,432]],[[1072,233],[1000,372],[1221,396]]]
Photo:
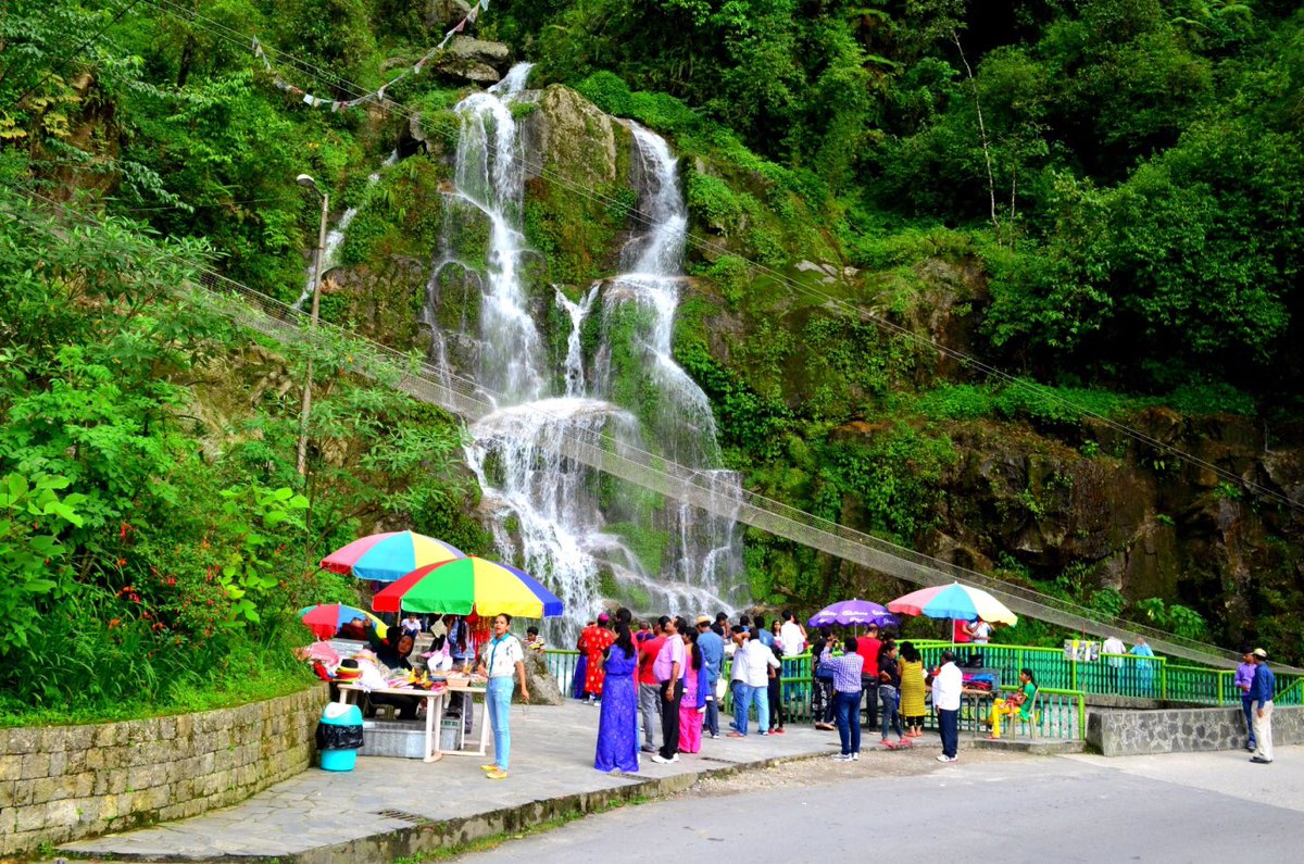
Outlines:
[[[477,723],[481,715],[477,710]],[[433,764],[360,757],[352,773],[309,769],[236,807],[60,851],[149,861],[386,861],[615,800],[670,794],[704,774],[828,754],[837,745],[836,732],[792,727],[781,736],[704,740],[700,754],[681,756],[678,764],[644,758],[636,775],[606,775],[593,770],[597,709],[518,706],[511,724],[507,780],[486,780],[480,770],[486,760],[477,757]],[[866,745],[876,737],[866,737]]]

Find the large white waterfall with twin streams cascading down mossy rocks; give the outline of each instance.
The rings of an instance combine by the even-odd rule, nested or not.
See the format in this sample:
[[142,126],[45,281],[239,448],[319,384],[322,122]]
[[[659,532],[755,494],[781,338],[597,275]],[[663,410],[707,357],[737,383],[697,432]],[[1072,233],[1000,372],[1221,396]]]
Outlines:
[[[496,553],[562,598],[569,633],[608,598],[643,615],[732,608],[742,569],[732,521],[659,504],[559,448],[567,437],[601,435],[617,453],[652,449],[700,469],[713,488],[737,489],[737,475],[717,467],[705,394],[672,356],[687,226],[675,159],[662,138],[631,127],[640,227],[621,251],[625,275],[591,286],[578,301],[531,283],[522,268],[526,158],[511,111],[529,98],[528,73],[518,65],[454,108],[462,119],[454,189],[422,312],[432,359],[475,368],[497,398],[466,448]],[[456,333],[438,317],[459,291],[462,308],[476,300],[479,315]],[[595,307],[601,345],[587,369],[582,335]],[[549,362],[536,325],[544,318],[569,324],[565,358]],[[559,342],[552,342],[558,354]],[[627,405],[630,388],[656,398]]]

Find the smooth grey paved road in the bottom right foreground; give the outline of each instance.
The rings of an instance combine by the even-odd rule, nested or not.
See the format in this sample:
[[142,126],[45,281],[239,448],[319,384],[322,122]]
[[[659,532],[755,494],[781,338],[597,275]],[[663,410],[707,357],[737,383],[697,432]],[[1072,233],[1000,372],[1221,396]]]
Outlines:
[[[732,790],[589,817],[486,855],[531,864],[609,864],[638,851],[672,861],[1299,860],[1304,748],[1281,748],[1273,766],[1251,765],[1240,753],[962,756],[936,767],[927,765],[930,756],[909,756],[915,771],[904,777],[862,761],[835,766],[836,782],[789,779],[738,791],[747,788],[738,780]],[[867,842],[871,825],[888,839]],[[883,842],[889,847],[880,848]]]

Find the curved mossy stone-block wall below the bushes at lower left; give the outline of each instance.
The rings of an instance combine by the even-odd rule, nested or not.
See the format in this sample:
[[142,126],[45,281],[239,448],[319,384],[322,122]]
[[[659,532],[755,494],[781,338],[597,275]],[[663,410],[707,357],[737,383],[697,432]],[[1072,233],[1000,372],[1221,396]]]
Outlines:
[[325,685],[240,707],[0,730],[0,859],[226,807],[305,770]]

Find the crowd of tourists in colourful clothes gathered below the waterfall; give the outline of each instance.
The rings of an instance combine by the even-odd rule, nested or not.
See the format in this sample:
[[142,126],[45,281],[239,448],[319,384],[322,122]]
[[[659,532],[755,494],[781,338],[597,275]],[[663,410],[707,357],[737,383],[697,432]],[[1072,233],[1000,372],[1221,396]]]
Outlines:
[[[529,649],[542,649],[536,628],[529,628],[522,643],[510,632],[511,617],[490,620],[473,616],[443,616],[430,625],[432,643],[424,654],[430,670],[458,670],[475,666],[488,677],[486,706],[494,732],[496,762],[486,765],[486,777],[501,779],[507,773],[510,750],[509,705],[519,677],[528,700],[522,660]],[[981,649],[991,633],[983,621],[960,623],[964,637]],[[356,620],[340,629],[340,636],[364,637],[369,647],[360,651],[352,666],[363,684],[379,689],[378,675],[368,677],[372,663],[378,668],[409,668],[409,655],[424,623],[404,617],[386,637],[366,621]],[[960,642],[960,632],[956,632]],[[640,758],[672,764],[683,753],[700,752],[702,739],[745,739],[751,735],[785,733],[784,660],[810,651],[812,658],[811,714],[816,730],[837,731],[840,748],[832,758],[857,761],[862,752],[862,730],[878,732],[887,749],[908,748],[923,735],[926,700],[931,698],[941,739],[940,762],[957,761],[958,717],[965,693],[995,696],[983,718],[990,737],[1000,737],[1003,724],[1033,722],[1038,685],[1033,670],[1020,671],[1018,687],[1008,697],[996,688],[971,683],[973,670],[962,671],[955,650],[943,650],[940,663],[925,668],[919,650],[909,641],[897,642],[868,625],[855,636],[836,636],[832,628],[808,633],[792,612],[785,611],[769,626],[763,616],[743,613],[737,621],[725,612],[713,619],[698,616],[691,624],[682,616],[661,616],[635,621],[629,609],[602,613],[589,621],[576,641],[579,659],[571,681],[571,696],[599,709],[595,767],[600,771],[635,773]],[[1132,655],[1134,675],[1153,675],[1145,658],[1154,653],[1144,638],[1131,651],[1116,636],[1103,645],[1107,668],[1116,672],[1125,655]],[[981,653],[970,654],[966,666],[981,666]],[[479,658],[479,663],[476,659]],[[1235,684],[1243,693],[1247,749],[1254,762],[1273,761],[1271,710],[1274,679],[1262,649],[1247,651]],[[969,672],[969,675],[966,675]],[[1144,681],[1138,689],[1145,689]],[[370,689],[370,688],[369,688]],[[720,709],[729,694],[733,719],[721,732]],[[417,697],[374,693],[370,710],[393,705],[402,719],[417,717]],[[469,697],[454,696],[451,713],[460,715],[467,732],[472,726]],[[862,715],[865,722],[862,723]],[[752,722],[755,720],[755,726]]]

